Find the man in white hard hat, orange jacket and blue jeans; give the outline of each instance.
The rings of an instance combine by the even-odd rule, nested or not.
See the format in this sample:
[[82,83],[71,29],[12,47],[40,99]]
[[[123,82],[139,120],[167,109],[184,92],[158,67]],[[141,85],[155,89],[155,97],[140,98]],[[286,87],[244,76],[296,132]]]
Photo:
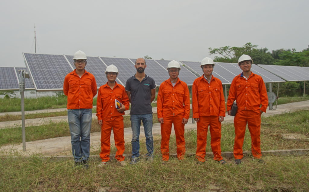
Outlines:
[[74,71],[67,74],[63,92],[68,96],[68,120],[71,132],[72,153],[75,165],[88,167],[90,154],[90,128],[92,101],[97,94],[95,77],[85,70],[87,56],[82,51],[74,53]]

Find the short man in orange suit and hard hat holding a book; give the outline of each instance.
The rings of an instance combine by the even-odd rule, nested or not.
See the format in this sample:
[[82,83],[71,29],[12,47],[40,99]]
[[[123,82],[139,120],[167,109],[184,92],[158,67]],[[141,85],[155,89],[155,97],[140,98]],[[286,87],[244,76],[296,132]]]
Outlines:
[[98,123],[101,126],[101,152],[102,159],[98,167],[103,167],[110,160],[111,152],[110,137],[113,130],[115,146],[117,148],[115,158],[124,166],[125,138],[123,115],[129,109],[129,98],[125,87],[116,82],[118,69],[115,65],[109,65],[105,70],[108,82],[99,88],[97,98]]

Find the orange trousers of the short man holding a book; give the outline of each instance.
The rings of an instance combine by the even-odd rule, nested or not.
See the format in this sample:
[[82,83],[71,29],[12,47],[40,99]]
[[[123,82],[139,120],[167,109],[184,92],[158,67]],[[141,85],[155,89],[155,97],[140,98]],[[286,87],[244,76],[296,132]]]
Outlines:
[[125,157],[123,156],[123,152],[125,151],[125,138],[123,133],[123,116],[117,116],[112,121],[104,121],[101,127],[101,152],[100,158],[102,161],[109,161],[109,155],[111,152],[111,132],[113,129],[114,132],[114,140],[115,146],[117,148],[117,152],[115,158],[117,161],[124,161]]

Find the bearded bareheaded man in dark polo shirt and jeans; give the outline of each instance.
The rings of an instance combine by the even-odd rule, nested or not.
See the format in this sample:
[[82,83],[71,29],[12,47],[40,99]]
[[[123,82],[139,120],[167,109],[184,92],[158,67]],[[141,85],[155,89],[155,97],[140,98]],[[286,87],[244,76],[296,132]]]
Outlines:
[[139,133],[141,121],[143,122],[146,137],[146,158],[153,160],[153,136],[152,136],[152,106],[151,102],[155,99],[155,80],[145,74],[147,67],[143,58],[135,61],[136,73],[130,77],[125,90],[131,102],[130,120],[132,128],[132,161],[131,164],[139,162]]

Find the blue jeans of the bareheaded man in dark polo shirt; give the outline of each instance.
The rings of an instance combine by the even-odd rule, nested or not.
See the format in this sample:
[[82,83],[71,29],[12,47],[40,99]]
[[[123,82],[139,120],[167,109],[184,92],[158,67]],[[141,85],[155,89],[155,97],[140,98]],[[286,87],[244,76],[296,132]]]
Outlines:
[[152,114],[131,115],[131,128],[132,128],[132,158],[139,157],[139,132],[141,129],[141,121],[144,125],[146,137],[146,156],[153,156],[154,139],[152,137]]

